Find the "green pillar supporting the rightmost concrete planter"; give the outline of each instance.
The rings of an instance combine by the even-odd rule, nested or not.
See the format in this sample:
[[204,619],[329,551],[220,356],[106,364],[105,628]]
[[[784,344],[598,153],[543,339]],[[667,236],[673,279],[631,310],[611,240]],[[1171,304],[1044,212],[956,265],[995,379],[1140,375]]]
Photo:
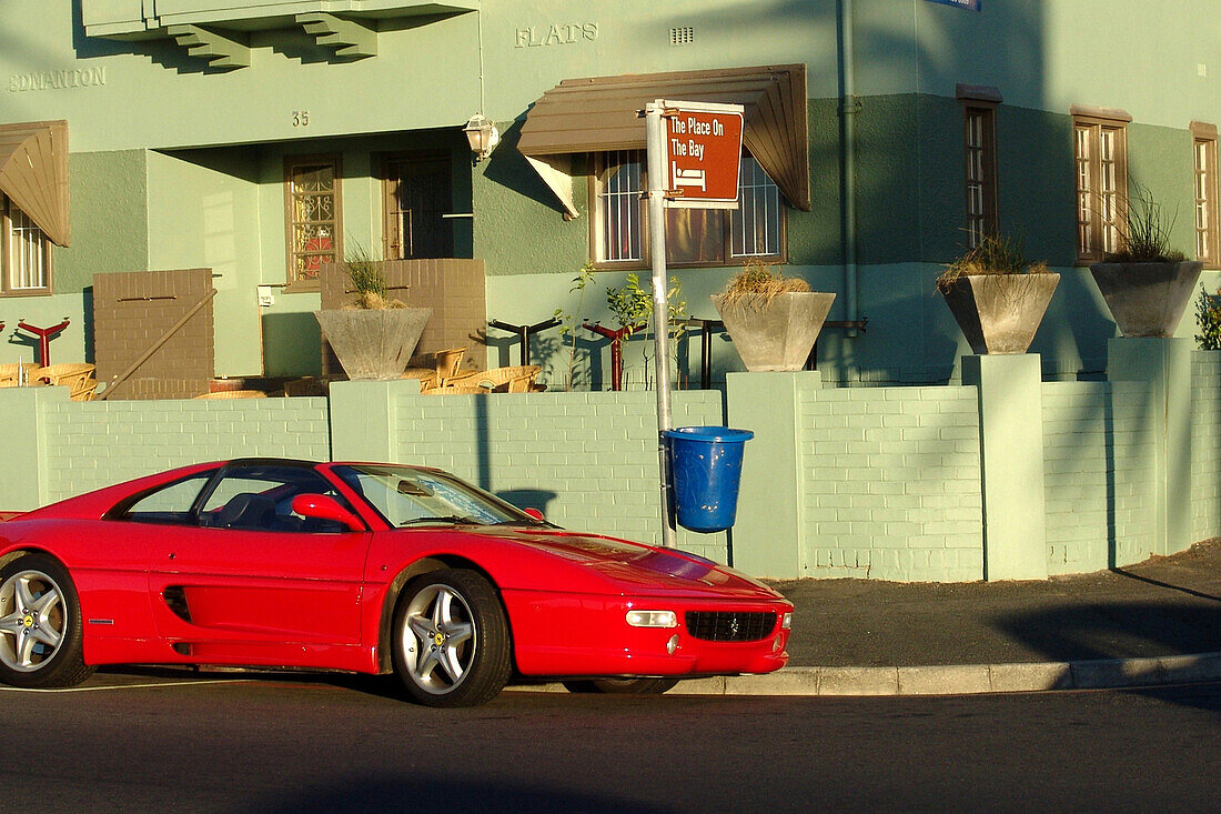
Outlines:
[[1192,545],[1192,340],[1112,339],[1106,346],[1111,381],[1150,387],[1144,420],[1154,438],[1154,551]]

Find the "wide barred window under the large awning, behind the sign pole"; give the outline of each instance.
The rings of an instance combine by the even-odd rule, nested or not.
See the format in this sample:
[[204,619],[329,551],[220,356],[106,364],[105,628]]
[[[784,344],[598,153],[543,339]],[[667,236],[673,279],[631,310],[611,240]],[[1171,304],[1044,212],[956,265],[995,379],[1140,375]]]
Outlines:
[[[596,156],[592,254],[601,264],[640,266],[648,260],[645,154],[618,150]],[[739,169],[737,209],[668,209],[667,263],[734,265],[747,258],[783,258],[780,191],[748,154]]]

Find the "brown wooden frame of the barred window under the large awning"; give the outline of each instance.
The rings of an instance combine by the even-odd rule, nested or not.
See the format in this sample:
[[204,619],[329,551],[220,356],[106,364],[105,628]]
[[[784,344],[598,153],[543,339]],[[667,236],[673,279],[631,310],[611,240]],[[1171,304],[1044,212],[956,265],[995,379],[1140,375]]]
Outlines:
[[[648,188],[648,170],[647,161],[645,156],[645,150],[615,150],[614,153],[635,153],[640,156],[640,186],[641,193]],[[608,156],[612,153],[593,153],[590,154],[590,172],[589,172],[589,211],[590,211],[590,230],[589,230],[589,253],[592,258],[593,268],[598,270],[637,270],[650,268],[652,257],[652,247],[650,241],[650,226],[648,226],[648,207],[643,197],[640,200],[640,259],[630,260],[606,260],[602,259],[602,242],[603,233],[601,231],[601,203],[600,197],[602,193],[602,176],[607,169]],[[745,155],[745,153],[744,153]],[[757,164],[757,160],[756,160]],[[762,169],[762,166],[759,167]],[[764,170],[766,174],[766,170]],[[733,246],[733,218],[740,210],[719,210],[725,213],[724,227],[723,227],[723,246],[722,246],[722,258],[720,260],[697,260],[690,263],[676,263],[667,259],[667,268],[672,269],[717,269],[717,268],[733,268],[746,265],[752,260],[762,260],[763,263],[775,263],[784,264],[788,262],[788,209],[789,205],[785,200],[784,193],[779,191],[775,181],[768,176],[772,185],[777,188],[777,202],[778,202],[778,231],[777,242],[779,243],[779,251],[775,254],[735,254]],[[740,193],[739,193],[740,194]],[[686,211],[686,210],[672,210],[672,211]]]

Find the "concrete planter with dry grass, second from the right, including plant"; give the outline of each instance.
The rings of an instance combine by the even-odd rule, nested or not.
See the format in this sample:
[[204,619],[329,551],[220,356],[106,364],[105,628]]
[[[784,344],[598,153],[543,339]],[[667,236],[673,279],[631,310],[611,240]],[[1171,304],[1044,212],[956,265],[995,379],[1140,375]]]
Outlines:
[[974,353],[1026,353],[1059,282],[1011,238],[985,235],[945,266],[937,290]]

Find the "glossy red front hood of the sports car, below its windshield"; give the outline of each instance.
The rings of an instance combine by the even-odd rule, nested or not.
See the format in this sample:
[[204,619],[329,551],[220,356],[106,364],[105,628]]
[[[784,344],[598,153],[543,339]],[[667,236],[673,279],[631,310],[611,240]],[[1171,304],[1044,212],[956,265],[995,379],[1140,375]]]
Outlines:
[[718,599],[783,599],[762,582],[701,556],[559,529],[505,529],[497,539],[610,582],[618,590]]

